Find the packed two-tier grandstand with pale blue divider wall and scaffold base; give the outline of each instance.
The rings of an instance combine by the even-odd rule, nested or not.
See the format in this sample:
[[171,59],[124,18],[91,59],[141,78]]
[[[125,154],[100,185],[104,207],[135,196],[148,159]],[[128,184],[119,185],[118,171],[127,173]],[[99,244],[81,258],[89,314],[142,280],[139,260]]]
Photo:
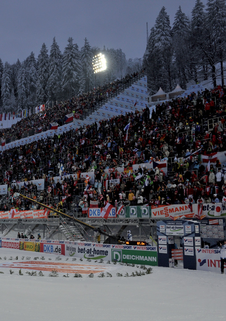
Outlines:
[[[216,88],[150,106],[142,71],[23,118],[0,133],[2,211],[38,209],[13,198],[20,192],[114,235],[133,226],[135,238],[155,238],[151,215],[111,213],[105,221],[89,208],[108,202],[151,212],[151,206],[224,202],[225,98]],[[53,123],[57,128],[49,129]],[[24,231],[29,224],[27,234],[43,225],[45,238],[94,240],[86,228],[51,213],[2,223],[4,236],[22,223]]]

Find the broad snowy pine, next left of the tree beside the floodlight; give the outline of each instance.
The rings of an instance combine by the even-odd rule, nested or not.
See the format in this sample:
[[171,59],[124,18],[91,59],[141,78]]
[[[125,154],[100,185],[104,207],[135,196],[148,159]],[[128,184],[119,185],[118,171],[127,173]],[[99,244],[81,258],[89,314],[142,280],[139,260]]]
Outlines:
[[73,39],[68,38],[68,45],[63,52],[62,86],[65,98],[71,98],[79,92],[81,77],[81,55],[78,45],[73,44]]

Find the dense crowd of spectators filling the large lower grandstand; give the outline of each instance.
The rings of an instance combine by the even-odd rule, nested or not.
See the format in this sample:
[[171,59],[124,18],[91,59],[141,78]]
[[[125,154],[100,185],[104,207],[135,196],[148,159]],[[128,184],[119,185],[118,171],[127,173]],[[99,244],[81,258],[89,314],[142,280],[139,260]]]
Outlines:
[[[17,182],[39,178],[44,178],[45,190],[38,200],[43,203],[47,199],[50,204],[55,196],[58,204],[52,205],[60,209],[71,210],[72,201],[72,209],[87,208],[91,201],[98,201],[99,207],[106,202],[114,206],[218,203],[226,196],[226,165],[217,160],[207,169],[200,160],[201,155],[226,150],[226,96],[219,98],[219,90],[222,88],[191,93],[158,103],[155,109],[146,107],[1,151],[0,183],[8,184],[11,204],[19,209],[30,204],[13,199],[19,190]],[[64,108],[70,107],[63,106],[67,113]],[[215,113],[219,119],[209,130],[207,120]],[[123,130],[127,124],[128,139]],[[146,163],[164,160],[168,173],[161,165],[147,168]],[[136,171],[132,170],[134,164],[141,164]],[[59,175],[61,165],[64,169]],[[94,184],[90,184],[89,174],[82,175],[85,172],[94,172]],[[119,183],[105,188],[109,179],[119,179]],[[36,199],[36,191],[37,186],[27,182],[21,193]]]

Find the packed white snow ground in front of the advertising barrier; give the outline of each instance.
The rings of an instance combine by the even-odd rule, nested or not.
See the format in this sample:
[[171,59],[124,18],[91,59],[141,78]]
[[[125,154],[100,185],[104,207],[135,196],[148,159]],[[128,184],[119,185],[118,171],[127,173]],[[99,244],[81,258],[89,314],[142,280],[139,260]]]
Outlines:
[[[56,260],[56,255],[37,252],[0,249],[0,319],[2,321],[24,320],[217,320],[225,318],[225,284],[226,275],[180,268],[153,267],[153,273],[144,276],[124,277],[136,270],[131,266],[87,262],[86,259],[72,261]],[[7,260],[4,260],[4,256]],[[9,260],[18,256],[18,260]],[[25,256],[21,260],[21,256]],[[59,265],[75,264],[79,270],[104,270],[105,277],[98,278],[100,272],[89,278],[82,273],[82,278],[29,276],[26,267],[11,266],[14,274],[9,272],[9,264],[25,264],[26,257],[34,262],[34,257],[45,256],[45,261],[37,263]],[[48,260],[51,258],[51,260]],[[28,260],[26,260],[27,262]],[[36,262],[36,261],[35,261]],[[6,267],[3,267],[3,264]],[[26,263],[29,266],[29,263]],[[148,266],[147,266],[148,267]],[[33,269],[33,266],[32,266]],[[35,269],[33,269],[35,270]],[[38,267],[38,271],[41,268]],[[106,277],[106,272],[112,277]],[[122,273],[123,277],[117,277]]]

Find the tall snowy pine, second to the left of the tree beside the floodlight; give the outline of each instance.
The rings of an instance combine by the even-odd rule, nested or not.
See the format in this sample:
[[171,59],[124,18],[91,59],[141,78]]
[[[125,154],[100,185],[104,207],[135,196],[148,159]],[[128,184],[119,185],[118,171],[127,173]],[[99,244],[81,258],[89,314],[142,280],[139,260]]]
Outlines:
[[49,55],[49,79],[47,83],[50,100],[59,100],[61,98],[61,83],[62,53],[54,37]]

